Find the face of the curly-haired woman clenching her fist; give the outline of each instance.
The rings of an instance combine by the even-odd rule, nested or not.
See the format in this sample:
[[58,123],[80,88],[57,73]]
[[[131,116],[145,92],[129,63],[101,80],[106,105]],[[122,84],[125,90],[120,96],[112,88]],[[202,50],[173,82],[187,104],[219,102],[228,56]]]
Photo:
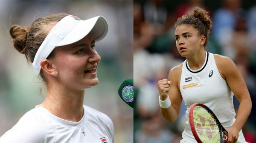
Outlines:
[[183,57],[192,56],[202,47],[198,30],[189,24],[182,24],[176,27],[175,40],[177,50]]

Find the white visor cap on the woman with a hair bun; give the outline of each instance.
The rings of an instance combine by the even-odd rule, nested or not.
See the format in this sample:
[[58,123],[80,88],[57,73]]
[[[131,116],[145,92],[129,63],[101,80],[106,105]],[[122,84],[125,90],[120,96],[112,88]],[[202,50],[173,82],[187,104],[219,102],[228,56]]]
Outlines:
[[95,41],[103,39],[108,33],[108,23],[102,16],[80,20],[78,17],[69,15],[59,21],[44,39],[38,48],[32,63],[35,70],[40,73],[40,62],[47,59],[55,47],[69,45],[91,34]]

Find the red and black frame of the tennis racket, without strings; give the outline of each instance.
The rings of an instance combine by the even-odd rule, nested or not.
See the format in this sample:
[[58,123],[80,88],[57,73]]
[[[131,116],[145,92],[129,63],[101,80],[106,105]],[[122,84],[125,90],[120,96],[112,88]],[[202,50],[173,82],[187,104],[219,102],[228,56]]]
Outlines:
[[[218,118],[216,117],[216,115],[212,112],[212,110],[211,110],[209,107],[207,107],[206,105],[200,104],[200,103],[192,104],[191,107],[190,107],[190,109],[189,109],[189,124],[190,124],[190,127],[191,127],[191,131],[192,131],[192,133],[193,133],[193,135],[194,135],[194,137],[195,137],[195,140],[196,140],[198,143],[203,143],[203,142],[201,141],[201,139],[198,137],[197,132],[196,132],[196,130],[195,130],[194,117],[193,117],[193,110],[194,110],[194,108],[195,108],[196,106],[201,106],[201,107],[203,107],[204,109],[208,110],[208,111],[210,112],[210,114],[212,114],[212,116],[213,116],[213,118],[216,120],[216,123],[217,123],[217,125],[218,125],[218,128],[219,128],[219,130],[220,130],[220,132],[221,132],[221,135],[220,135],[220,136],[221,136],[221,143],[227,143],[227,141],[228,141],[228,132],[227,132],[227,130],[221,125],[220,121],[218,120]],[[226,138],[225,138],[225,139],[223,139],[222,133],[224,133],[224,134],[226,135]]]

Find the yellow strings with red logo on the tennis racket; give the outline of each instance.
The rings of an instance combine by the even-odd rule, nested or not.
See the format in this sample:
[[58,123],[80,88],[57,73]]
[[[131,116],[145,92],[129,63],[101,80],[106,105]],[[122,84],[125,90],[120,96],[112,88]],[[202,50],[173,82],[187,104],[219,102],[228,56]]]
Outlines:
[[220,143],[221,130],[212,114],[201,106],[193,110],[194,126],[203,143]]

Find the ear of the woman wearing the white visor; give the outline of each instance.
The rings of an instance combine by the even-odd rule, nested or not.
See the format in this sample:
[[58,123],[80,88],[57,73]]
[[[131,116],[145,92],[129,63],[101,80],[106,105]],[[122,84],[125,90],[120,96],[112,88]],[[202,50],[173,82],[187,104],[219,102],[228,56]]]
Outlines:
[[42,70],[44,70],[45,73],[52,75],[52,76],[56,76],[58,77],[58,71],[55,68],[55,65],[52,64],[51,61],[49,61],[48,59],[44,59],[40,62],[41,68]]

